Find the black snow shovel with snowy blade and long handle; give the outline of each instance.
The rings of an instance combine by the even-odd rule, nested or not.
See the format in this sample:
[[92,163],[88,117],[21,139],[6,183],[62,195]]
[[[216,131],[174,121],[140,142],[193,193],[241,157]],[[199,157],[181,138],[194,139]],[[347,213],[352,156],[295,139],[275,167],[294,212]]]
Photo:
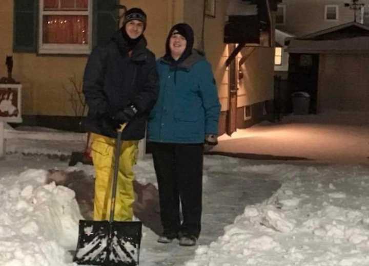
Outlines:
[[114,176],[109,221],[79,220],[78,243],[73,261],[84,265],[135,266],[139,262],[142,224],[140,221],[114,221],[115,196],[121,132],[117,130]]

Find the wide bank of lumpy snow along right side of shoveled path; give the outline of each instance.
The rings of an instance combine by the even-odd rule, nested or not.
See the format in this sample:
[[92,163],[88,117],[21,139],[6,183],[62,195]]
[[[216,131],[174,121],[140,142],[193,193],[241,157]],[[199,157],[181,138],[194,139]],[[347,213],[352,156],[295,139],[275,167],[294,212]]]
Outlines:
[[[286,172],[291,168],[276,171]],[[277,193],[245,207],[224,235],[199,246],[186,266],[369,265],[368,169],[301,167],[284,177]]]

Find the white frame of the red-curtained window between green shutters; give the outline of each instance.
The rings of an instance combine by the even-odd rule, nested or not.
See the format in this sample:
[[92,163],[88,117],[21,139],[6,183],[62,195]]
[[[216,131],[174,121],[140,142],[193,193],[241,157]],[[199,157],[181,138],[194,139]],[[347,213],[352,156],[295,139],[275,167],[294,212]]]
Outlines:
[[89,0],[88,11],[63,11],[63,15],[88,15],[88,43],[80,44],[55,44],[43,43],[43,16],[60,15],[60,11],[45,11],[44,0],[39,0],[38,12],[38,53],[39,54],[90,54],[92,49],[92,2]]

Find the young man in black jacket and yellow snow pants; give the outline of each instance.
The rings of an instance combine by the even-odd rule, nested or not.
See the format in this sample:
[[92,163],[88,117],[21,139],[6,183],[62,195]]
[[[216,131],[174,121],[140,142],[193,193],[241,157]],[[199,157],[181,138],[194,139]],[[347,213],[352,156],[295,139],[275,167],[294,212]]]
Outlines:
[[155,55],[143,35],[147,16],[129,9],[123,26],[104,47],[96,47],[87,62],[83,92],[89,106],[88,130],[95,167],[94,220],[108,220],[116,129],[122,132],[114,220],[132,220],[132,166],[138,140],[145,137],[146,120],[158,95]]

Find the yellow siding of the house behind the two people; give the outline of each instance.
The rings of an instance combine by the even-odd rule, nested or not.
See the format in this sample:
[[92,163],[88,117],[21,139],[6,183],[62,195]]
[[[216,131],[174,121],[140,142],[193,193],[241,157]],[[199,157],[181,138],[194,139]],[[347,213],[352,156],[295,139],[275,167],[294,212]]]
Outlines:
[[[169,29],[176,23],[189,23],[195,31],[195,47],[201,45],[202,35],[202,1],[196,0],[120,0],[128,9],[142,8],[148,15],[145,36],[148,47],[156,57],[165,53],[165,41]],[[204,20],[204,52],[213,67],[218,86],[222,111],[228,110],[229,77],[225,62],[228,58],[228,46],[223,43],[224,24],[227,20],[228,0],[216,0],[215,17],[207,16]],[[74,116],[69,95],[63,89],[68,87],[68,78],[75,75],[77,81],[83,78],[87,56],[38,56],[35,53],[13,53],[13,1],[3,0],[0,10],[0,62],[6,55],[13,55],[13,77],[22,82],[23,114]],[[9,12],[10,11],[10,12]],[[265,48],[262,51],[267,51]],[[268,50],[269,51],[269,50]],[[273,54],[259,54],[248,66],[250,73],[256,75],[249,80],[247,90],[252,92],[239,94],[239,106],[253,104],[272,98],[273,90],[267,92],[267,83],[272,84],[273,69],[269,68],[269,56],[273,68]],[[267,59],[265,59],[267,58]],[[255,68],[255,70],[251,70]],[[262,72],[260,72],[262,70]],[[0,63],[1,76],[6,75],[5,64]],[[263,75],[260,77],[260,75]],[[270,86],[269,86],[270,87]],[[245,86],[246,88],[246,86]],[[250,95],[249,95],[250,94]],[[246,95],[248,95],[246,97]],[[246,99],[247,98],[247,99]]]

